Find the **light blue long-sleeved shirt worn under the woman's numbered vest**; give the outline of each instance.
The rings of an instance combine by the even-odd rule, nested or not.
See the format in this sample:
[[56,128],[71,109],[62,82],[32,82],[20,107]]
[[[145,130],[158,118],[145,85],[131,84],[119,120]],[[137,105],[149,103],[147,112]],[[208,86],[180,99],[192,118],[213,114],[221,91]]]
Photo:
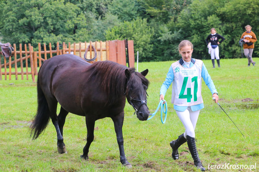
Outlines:
[[[180,62],[184,62],[182,59],[179,60]],[[195,59],[191,59],[191,63],[190,63],[190,67],[191,68],[195,63]],[[183,67],[187,68],[187,66],[185,65],[185,63],[182,64]],[[203,78],[204,82],[206,83],[206,85],[209,87],[209,90],[211,91],[211,94],[213,95],[214,93],[218,94],[216,88],[215,88],[215,85],[204,65],[204,63],[202,64],[202,69],[201,69],[201,77]],[[173,82],[174,80],[174,75],[173,75],[173,68],[172,66],[170,66],[169,68],[169,71],[166,75],[166,78],[165,78],[165,81],[164,83],[162,84],[161,86],[161,89],[160,89],[160,95],[165,95],[167,89],[169,88],[169,86],[171,85],[171,83]],[[188,106],[178,106],[178,105],[173,105],[173,109],[177,110],[177,111],[180,111],[180,112],[183,112],[187,109]],[[191,110],[192,111],[197,111],[197,110],[200,110],[200,109],[203,109],[204,108],[204,104],[201,103],[201,104],[197,104],[197,105],[193,105],[191,106]]]

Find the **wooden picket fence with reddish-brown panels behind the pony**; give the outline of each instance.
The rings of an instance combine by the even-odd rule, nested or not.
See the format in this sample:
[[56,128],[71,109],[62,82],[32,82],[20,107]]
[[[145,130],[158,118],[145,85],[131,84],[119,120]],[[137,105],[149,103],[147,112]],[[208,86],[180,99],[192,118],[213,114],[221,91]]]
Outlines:
[[[34,48],[31,46],[31,44],[28,44],[28,47],[27,44],[25,44],[24,50],[22,50],[22,44],[20,44],[19,51],[17,51],[16,44],[14,44],[14,51],[12,51],[12,56],[14,56],[14,58],[11,58],[10,56],[9,59],[6,59],[4,56],[0,56],[0,80],[2,80],[3,77],[5,77],[5,80],[7,80],[7,75],[9,75],[9,80],[11,80],[12,75],[15,75],[16,80],[18,80],[18,75],[21,75],[22,80],[26,75],[26,79],[28,80],[29,75],[31,75],[32,81],[35,82],[35,75],[38,75],[38,67],[41,67],[42,62],[47,60],[47,57],[51,58],[59,54],[75,54],[84,59],[84,54],[88,45],[90,45],[90,48],[89,52],[87,52],[86,54],[86,59],[92,59],[94,55],[94,51],[92,50],[93,45],[97,51],[97,58],[95,59],[95,61],[110,60],[126,66],[127,54],[128,66],[134,67],[135,58],[134,45],[132,40],[125,39],[105,42],[96,41],[88,43],[80,42],[77,44],[73,43],[72,45],[70,44],[70,42],[68,43],[68,45],[65,44],[65,42],[63,42],[62,45],[57,42],[55,50],[52,50],[51,43],[49,43],[49,50],[46,49],[46,44],[43,45],[43,50],[41,50],[41,43],[38,43],[38,51],[34,51]],[[1,58],[4,58],[4,64],[1,64]],[[7,62],[7,60],[9,62]],[[24,60],[25,65],[23,64]],[[30,65],[28,65],[28,61],[30,62]],[[95,61],[89,63],[94,63]],[[20,71],[17,70],[17,63],[20,63]],[[12,71],[13,64],[15,71]],[[3,68],[4,71],[2,71]]]

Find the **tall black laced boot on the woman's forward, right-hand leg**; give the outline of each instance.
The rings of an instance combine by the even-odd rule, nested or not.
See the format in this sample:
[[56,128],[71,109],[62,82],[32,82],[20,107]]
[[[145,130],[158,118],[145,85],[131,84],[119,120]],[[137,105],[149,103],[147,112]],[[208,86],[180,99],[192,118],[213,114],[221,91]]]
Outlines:
[[187,135],[186,139],[187,139],[187,144],[188,144],[191,156],[194,160],[195,167],[197,167],[201,171],[205,171],[205,168],[203,167],[203,165],[200,161],[200,158],[199,158],[199,154],[198,154],[196,144],[195,144],[195,138]]

